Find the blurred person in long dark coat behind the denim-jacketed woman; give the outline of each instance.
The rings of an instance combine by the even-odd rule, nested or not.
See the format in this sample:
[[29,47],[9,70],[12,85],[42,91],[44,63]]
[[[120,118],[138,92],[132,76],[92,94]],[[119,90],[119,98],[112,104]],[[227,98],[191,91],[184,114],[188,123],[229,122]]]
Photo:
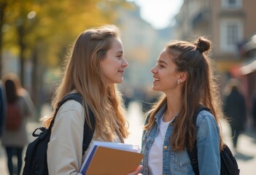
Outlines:
[[247,108],[244,96],[240,92],[241,84],[238,79],[229,79],[224,96],[223,112],[229,118],[233,148],[237,151],[238,136],[244,131],[247,121]]

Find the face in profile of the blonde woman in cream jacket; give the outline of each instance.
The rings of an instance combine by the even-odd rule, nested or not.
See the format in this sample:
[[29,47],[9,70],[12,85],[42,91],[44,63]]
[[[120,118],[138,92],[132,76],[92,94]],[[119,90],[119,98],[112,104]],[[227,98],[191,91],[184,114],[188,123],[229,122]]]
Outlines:
[[100,69],[106,82],[108,84],[123,82],[123,74],[127,66],[120,39],[113,39],[111,48],[106,52],[105,58],[100,61]]

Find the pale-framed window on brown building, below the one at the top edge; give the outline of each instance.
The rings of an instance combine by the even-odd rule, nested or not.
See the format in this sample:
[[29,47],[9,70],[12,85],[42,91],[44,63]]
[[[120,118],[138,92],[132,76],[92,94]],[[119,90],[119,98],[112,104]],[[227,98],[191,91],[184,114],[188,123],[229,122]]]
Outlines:
[[234,52],[243,39],[243,23],[239,20],[222,20],[220,23],[220,45],[222,51]]

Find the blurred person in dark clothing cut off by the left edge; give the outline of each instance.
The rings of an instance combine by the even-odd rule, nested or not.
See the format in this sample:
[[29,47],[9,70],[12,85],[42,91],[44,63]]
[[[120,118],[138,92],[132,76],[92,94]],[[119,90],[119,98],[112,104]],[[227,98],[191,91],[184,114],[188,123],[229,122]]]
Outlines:
[[2,133],[4,132],[6,106],[7,106],[7,101],[5,96],[4,83],[0,79],[0,139],[1,139]]

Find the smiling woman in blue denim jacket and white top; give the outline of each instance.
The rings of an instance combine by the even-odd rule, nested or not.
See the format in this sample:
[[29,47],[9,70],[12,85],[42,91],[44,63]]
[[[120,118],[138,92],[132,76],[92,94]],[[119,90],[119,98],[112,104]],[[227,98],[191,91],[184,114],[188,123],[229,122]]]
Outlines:
[[[143,174],[194,174],[187,149],[198,148],[200,174],[220,174],[220,94],[207,56],[210,41],[169,42],[151,69],[152,89],[163,92],[148,112],[142,136]],[[198,106],[208,107],[193,114]]]

